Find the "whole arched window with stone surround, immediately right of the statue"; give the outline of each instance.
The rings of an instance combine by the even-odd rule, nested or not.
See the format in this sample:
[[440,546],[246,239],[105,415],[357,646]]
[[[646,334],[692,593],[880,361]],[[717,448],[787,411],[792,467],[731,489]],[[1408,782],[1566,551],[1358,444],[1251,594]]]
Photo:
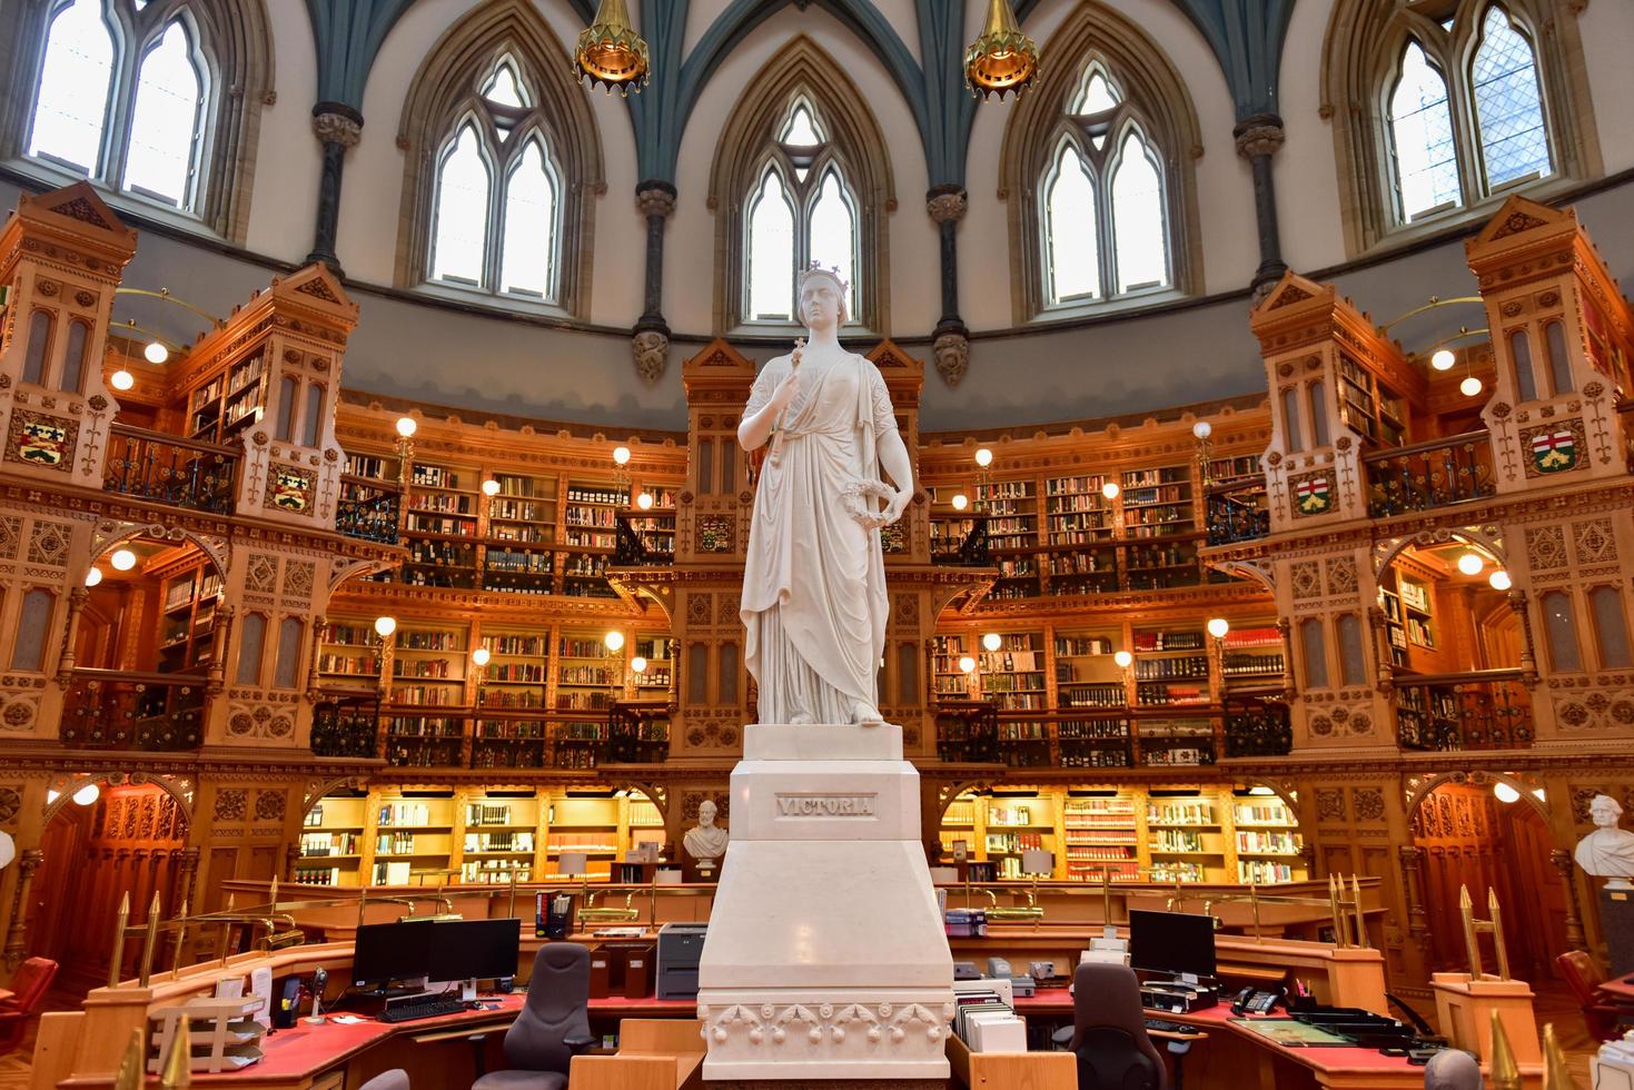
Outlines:
[[1191,291],[1201,281],[1193,152],[1178,70],[1103,3],[1074,11],[1013,108],[1000,154],[1018,324]]

